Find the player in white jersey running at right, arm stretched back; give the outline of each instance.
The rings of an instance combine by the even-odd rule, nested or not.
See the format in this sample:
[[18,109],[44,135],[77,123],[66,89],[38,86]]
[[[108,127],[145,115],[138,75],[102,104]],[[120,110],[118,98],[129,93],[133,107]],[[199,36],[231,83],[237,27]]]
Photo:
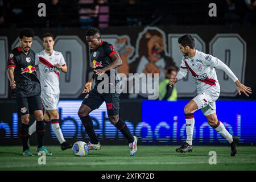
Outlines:
[[216,115],[215,101],[220,96],[220,84],[218,83],[215,68],[223,70],[234,81],[237,85],[239,95],[243,92],[249,97],[248,93],[251,94],[251,88],[241,84],[230,68],[217,57],[197,51],[195,48],[195,40],[191,35],[181,36],[178,42],[180,51],[183,53],[184,57],[181,59],[179,72],[175,78],[170,79],[169,84],[173,86],[190,71],[196,82],[197,96],[188,102],[184,108],[187,140],[183,146],[176,149],[176,152],[192,151],[193,129],[195,125],[193,113],[201,109],[209,125],[228,140],[231,147],[230,155],[236,155],[236,146],[239,139],[237,136],[229,134]]

